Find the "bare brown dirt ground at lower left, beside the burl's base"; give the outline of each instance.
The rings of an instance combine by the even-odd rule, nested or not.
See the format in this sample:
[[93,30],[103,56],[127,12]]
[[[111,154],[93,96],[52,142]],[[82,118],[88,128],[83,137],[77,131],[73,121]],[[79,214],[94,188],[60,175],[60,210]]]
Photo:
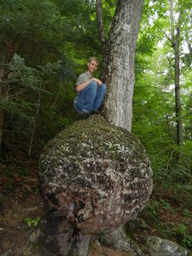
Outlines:
[[[46,222],[49,208],[38,189],[22,191],[9,195],[0,211],[0,255],[60,255],[50,253],[44,242],[39,240]],[[38,219],[37,226],[30,227],[30,220]],[[28,219],[28,224],[26,219]],[[99,241],[90,245],[89,256],[129,256],[113,248],[104,247]]]

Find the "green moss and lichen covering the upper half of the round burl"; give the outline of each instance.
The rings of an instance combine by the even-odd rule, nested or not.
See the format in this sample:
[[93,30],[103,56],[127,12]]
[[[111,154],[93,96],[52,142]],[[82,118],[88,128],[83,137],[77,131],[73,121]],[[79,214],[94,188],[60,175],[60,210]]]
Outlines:
[[[76,183],[77,188],[99,183],[108,190],[114,183],[110,175],[107,172],[101,174],[101,170],[125,174],[127,166],[134,167],[130,168],[125,181],[131,177],[133,180],[135,172],[143,177],[141,166],[149,166],[143,146],[137,137],[109,125],[100,115],[75,122],[50,140],[39,165],[42,183],[46,186],[49,183],[49,188],[56,190],[71,183]],[[65,183],[61,185],[63,180]]]

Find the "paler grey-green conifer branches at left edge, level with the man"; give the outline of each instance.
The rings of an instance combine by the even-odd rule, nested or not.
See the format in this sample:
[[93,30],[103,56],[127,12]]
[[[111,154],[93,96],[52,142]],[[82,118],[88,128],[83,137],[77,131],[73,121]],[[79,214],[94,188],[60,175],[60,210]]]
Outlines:
[[43,78],[54,75],[60,67],[59,62],[37,68],[27,67],[24,59],[15,54],[11,63],[5,65],[9,75],[7,81],[1,84],[8,87],[9,95],[0,96],[0,108],[20,118],[32,119],[38,107],[33,97],[39,96],[41,92],[48,93],[42,89]]

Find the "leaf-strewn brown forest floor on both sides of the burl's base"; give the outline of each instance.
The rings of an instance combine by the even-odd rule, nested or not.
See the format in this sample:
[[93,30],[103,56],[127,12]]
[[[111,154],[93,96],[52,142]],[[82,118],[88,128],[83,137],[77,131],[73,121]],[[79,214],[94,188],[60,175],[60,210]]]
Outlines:
[[[19,149],[12,147],[0,162],[0,255],[51,255],[42,243],[34,243],[48,212],[38,189],[39,152],[29,158],[25,144],[20,143]],[[187,247],[192,255],[191,191],[154,181],[147,207],[125,229],[138,246],[143,236],[160,236]]]

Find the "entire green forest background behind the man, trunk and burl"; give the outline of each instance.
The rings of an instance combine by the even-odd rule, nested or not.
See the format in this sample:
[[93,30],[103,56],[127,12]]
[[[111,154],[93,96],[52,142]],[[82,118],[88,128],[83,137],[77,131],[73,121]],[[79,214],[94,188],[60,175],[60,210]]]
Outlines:
[[[116,1],[102,1],[108,37]],[[161,236],[192,247],[192,3],[145,0],[137,40],[132,132],[154,172],[143,214]],[[58,131],[81,119],[75,82],[102,44],[94,0],[0,3],[1,194],[6,201]],[[31,163],[31,162],[30,162]],[[35,167],[34,167],[35,169]],[[32,172],[33,169],[30,169]],[[35,172],[35,171],[34,171]],[[165,218],[160,218],[164,216]],[[170,217],[171,216],[171,217]],[[159,221],[157,221],[159,220]]]

